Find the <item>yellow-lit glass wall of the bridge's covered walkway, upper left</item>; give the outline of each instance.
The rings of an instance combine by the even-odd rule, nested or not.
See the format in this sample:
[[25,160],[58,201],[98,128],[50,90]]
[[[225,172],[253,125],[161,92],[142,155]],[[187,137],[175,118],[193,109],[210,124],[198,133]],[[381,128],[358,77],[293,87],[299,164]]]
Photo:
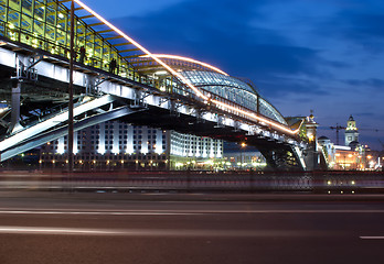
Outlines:
[[[68,10],[63,4],[57,4],[56,0],[0,0],[0,34],[12,41],[20,41],[32,47],[68,57]],[[118,66],[116,74],[153,85],[152,78],[135,74],[132,66],[118,54],[118,51],[87,28],[85,22],[76,19],[75,32],[75,50],[79,52],[82,46],[85,47],[86,65],[108,72],[111,58],[115,58]],[[167,86],[177,87],[173,81],[167,82]]]

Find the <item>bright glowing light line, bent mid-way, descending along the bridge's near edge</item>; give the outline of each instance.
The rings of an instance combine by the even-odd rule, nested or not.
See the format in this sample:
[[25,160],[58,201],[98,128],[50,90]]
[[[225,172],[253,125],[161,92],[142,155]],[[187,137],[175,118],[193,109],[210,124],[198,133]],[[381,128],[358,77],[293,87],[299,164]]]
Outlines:
[[[79,0],[74,0],[78,6],[81,6],[82,8],[84,8],[86,11],[88,11],[89,13],[92,13],[94,16],[96,16],[98,20],[100,20],[104,24],[106,24],[107,26],[109,26],[111,30],[114,30],[116,33],[118,33],[119,35],[121,35],[124,38],[126,38],[128,42],[130,42],[131,44],[134,44],[136,47],[138,47],[141,52],[143,52],[145,54],[147,54],[149,57],[151,57],[153,61],[156,61],[158,64],[160,64],[161,66],[163,66],[168,72],[170,72],[173,76],[178,77],[180,80],[182,80],[186,86],[189,86],[196,95],[198,97],[204,99],[205,103],[209,102],[210,98],[207,96],[205,96],[200,89],[198,89],[196,87],[194,87],[186,78],[184,78],[181,74],[179,74],[178,72],[175,72],[174,69],[172,69],[170,66],[168,66],[166,63],[163,63],[160,58],[158,58],[156,55],[151,54],[147,48],[145,48],[143,46],[141,46],[138,42],[136,42],[134,38],[129,37],[127,34],[125,34],[122,31],[120,31],[119,29],[117,29],[115,25],[113,25],[111,23],[109,23],[106,19],[104,19],[102,15],[99,15],[98,13],[96,13],[94,10],[92,10],[90,8],[88,8],[85,3],[83,3]],[[233,111],[236,111],[238,113],[243,113],[244,116],[254,119],[254,120],[258,120],[262,122],[265,122],[267,124],[270,124],[274,128],[277,128],[279,130],[282,130],[289,134],[296,134],[299,132],[299,129],[297,130],[290,130],[288,128],[285,128],[278,123],[271,122],[267,119],[257,117],[255,113],[253,112],[248,112],[248,111],[244,111],[242,109],[238,108],[234,108],[227,103],[217,101],[217,100],[211,100],[211,102],[217,105],[217,106],[222,106],[226,109],[231,109]]]

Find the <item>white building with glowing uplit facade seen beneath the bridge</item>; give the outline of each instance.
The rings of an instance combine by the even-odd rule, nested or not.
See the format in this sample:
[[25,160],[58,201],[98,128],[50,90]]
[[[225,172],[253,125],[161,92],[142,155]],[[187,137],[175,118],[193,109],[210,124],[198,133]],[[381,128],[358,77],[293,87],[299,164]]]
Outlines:
[[[65,167],[66,150],[66,136],[43,145],[41,166]],[[188,163],[198,166],[221,160],[223,143],[146,125],[107,121],[75,132],[74,153],[75,168],[78,169],[185,169]]]

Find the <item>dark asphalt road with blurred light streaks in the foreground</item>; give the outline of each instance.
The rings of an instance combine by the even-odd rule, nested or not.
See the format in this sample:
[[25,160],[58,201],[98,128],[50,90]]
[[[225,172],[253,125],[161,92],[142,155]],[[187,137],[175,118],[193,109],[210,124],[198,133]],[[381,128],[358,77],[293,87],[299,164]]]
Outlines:
[[0,263],[384,263],[384,199],[0,194]]

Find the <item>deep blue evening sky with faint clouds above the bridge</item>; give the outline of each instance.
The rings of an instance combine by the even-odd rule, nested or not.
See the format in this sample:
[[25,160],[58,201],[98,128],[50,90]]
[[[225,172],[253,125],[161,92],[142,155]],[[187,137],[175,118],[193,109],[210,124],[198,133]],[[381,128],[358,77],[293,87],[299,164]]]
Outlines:
[[[284,116],[314,111],[319,134],[353,114],[384,142],[383,0],[84,0],[152,53],[250,79]],[[378,130],[378,131],[376,131]],[[343,142],[343,141],[342,141]]]

